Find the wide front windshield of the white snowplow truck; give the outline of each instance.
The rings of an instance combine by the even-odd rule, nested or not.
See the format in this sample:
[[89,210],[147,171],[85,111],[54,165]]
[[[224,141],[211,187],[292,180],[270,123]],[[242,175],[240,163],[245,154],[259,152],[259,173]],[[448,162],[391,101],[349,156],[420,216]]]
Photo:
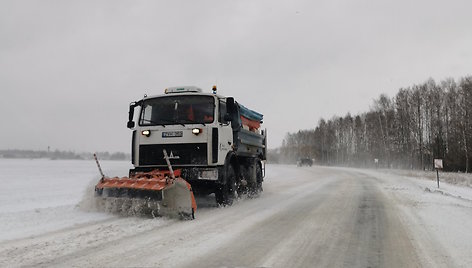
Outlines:
[[143,102],[141,126],[207,124],[214,120],[215,100],[211,96],[170,96]]

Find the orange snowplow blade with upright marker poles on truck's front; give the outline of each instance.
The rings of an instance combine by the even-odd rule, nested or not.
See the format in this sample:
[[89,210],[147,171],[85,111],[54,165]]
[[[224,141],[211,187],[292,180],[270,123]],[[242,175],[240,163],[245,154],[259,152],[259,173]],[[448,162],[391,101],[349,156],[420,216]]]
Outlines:
[[191,185],[173,170],[166,150],[169,170],[138,172],[129,177],[106,177],[94,154],[101,179],[95,186],[99,208],[128,215],[152,215],[194,219],[197,204]]

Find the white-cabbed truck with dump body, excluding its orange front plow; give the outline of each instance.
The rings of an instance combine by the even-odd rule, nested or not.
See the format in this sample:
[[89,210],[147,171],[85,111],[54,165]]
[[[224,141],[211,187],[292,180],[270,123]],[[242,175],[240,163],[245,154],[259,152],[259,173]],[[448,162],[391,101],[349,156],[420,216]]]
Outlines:
[[129,107],[130,177],[167,170],[167,151],[196,195],[214,193],[219,205],[231,205],[243,194],[257,196],[267,148],[262,119],[234,98],[217,94],[216,87],[208,93],[194,86],[172,87],[145,96]]

